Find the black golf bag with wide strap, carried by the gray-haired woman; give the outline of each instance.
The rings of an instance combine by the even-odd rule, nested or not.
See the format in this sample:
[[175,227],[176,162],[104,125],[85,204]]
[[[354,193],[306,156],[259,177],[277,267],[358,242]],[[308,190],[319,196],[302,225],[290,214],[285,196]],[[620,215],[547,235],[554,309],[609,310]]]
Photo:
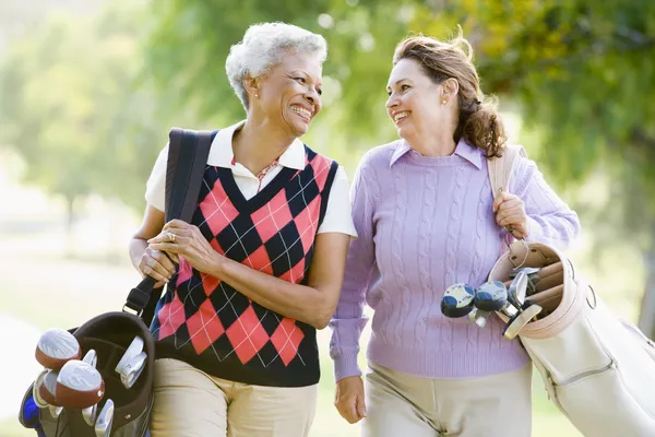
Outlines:
[[[211,140],[211,132],[171,129],[166,169],[166,222],[191,220]],[[156,351],[148,327],[162,295],[162,288],[154,288],[154,285],[152,277],[145,277],[129,293],[122,311],[103,314],[69,330],[78,340],[82,356],[91,350],[97,356],[95,367],[104,381],[105,393],[93,415],[85,411],[85,417],[80,409],[44,406],[46,404],[37,398],[39,387],[35,389],[37,379],[21,404],[19,421],[24,427],[35,429],[39,437],[150,436]],[[119,374],[117,367],[129,357],[134,358],[131,355],[133,342],[139,343],[136,354],[145,353],[145,361],[141,359],[139,373],[131,374],[133,381],[128,383],[126,375]]]

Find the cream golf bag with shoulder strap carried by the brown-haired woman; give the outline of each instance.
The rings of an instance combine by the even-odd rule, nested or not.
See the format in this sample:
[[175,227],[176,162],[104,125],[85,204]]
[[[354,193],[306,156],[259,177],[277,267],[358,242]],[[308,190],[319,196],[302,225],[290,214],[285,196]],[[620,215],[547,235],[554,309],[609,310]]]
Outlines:
[[[489,161],[495,194],[508,189],[513,162],[524,153],[513,146]],[[612,314],[569,258],[548,245],[515,241],[489,280],[548,265],[557,272],[538,280],[526,299],[541,312],[519,336],[550,400],[585,436],[655,436],[655,343]]]

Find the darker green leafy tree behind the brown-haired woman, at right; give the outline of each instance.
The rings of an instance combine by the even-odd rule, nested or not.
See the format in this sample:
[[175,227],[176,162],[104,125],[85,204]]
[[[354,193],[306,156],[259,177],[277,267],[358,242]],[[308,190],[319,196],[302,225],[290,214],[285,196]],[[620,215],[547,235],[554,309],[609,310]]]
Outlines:
[[655,338],[655,4],[477,4],[476,13],[455,19],[479,38],[486,87],[512,96],[543,134],[539,161],[561,186],[599,168],[612,180],[598,212],[608,227],[596,236],[598,249],[621,238],[642,251],[647,284],[640,326]]

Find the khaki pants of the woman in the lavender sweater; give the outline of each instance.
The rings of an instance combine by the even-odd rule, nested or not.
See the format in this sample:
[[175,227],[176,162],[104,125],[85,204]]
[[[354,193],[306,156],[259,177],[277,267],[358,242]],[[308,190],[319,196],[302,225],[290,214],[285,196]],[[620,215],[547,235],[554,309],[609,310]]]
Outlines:
[[426,379],[371,365],[365,437],[529,437],[532,364],[484,378]]

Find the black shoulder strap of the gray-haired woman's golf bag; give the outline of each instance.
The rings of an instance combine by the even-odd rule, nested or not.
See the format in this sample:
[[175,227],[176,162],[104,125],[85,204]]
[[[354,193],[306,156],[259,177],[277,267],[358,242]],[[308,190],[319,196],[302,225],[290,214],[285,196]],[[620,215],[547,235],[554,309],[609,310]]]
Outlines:
[[[166,222],[174,218],[190,222],[198,202],[204,168],[212,145],[212,132],[172,128],[168,142],[166,167]],[[130,291],[123,311],[131,309],[150,326],[162,288],[153,288],[155,280],[146,276]]]

